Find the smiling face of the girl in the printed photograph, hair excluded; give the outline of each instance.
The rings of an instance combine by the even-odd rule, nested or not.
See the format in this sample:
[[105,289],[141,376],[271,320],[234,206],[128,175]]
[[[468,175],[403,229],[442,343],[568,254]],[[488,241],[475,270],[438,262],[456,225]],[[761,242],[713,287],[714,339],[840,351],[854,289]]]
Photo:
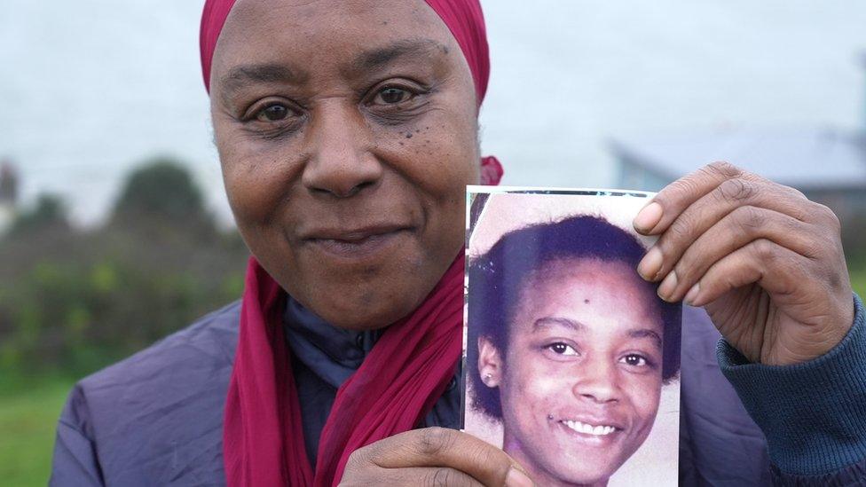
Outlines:
[[482,344],[482,376],[492,372],[489,385],[500,386],[506,451],[540,484],[605,482],[650,434],[663,329],[652,288],[625,263],[566,260],[536,271],[504,359]]

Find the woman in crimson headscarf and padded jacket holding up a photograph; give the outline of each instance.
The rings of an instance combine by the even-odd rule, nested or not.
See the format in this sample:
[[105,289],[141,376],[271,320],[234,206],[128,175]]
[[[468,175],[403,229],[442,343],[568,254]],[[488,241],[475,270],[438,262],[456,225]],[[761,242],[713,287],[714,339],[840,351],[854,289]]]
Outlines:
[[[412,430],[456,423],[464,186],[501,174],[479,164],[488,59],[476,0],[209,0],[201,54],[226,193],[254,255],[243,300],[79,382],[52,483],[530,483],[480,440]],[[759,191],[717,198],[730,185]],[[797,224],[726,232],[746,206],[775,208],[768,222],[806,215],[797,241],[787,232]],[[836,353],[861,319],[831,216],[782,186],[717,165],[661,192],[635,224],[661,235],[642,275],[665,279],[670,301],[700,282],[689,302],[706,304],[759,371]],[[785,246],[816,250],[808,262],[757,258]],[[764,328],[784,333],[756,340]],[[844,357],[861,343],[849,342]],[[816,381],[821,364],[791,387]],[[738,388],[772,377],[752,365],[734,368]],[[859,387],[857,373],[842,377]],[[759,418],[779,411],[775,397],[744,397],[757,398],[747,406]],[[799,405],[796,428],[768,436],[807,432],[816,416],[856,427],[858,407]],[[831,462],[802,471],[847,465],[836,444],[819,447]],[[801,471],[784,448],[770,454]]]

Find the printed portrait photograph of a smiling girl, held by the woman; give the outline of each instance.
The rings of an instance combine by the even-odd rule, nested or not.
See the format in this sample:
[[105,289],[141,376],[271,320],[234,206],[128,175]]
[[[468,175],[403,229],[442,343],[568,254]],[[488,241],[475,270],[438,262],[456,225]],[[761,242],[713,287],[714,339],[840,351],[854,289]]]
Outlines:
[[468,188],[463,428],[539,485],[676,485],[681,305],[636,268],[649,192]]

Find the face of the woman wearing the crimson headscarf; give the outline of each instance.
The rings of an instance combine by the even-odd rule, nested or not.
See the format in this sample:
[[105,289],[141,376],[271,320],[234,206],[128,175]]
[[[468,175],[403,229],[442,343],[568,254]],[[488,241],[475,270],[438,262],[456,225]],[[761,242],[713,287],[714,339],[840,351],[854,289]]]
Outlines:
[[336,326],[417,307],[463,242],[476,96],[421,0],[240,0],[216,44],[211,114],[240,233]]

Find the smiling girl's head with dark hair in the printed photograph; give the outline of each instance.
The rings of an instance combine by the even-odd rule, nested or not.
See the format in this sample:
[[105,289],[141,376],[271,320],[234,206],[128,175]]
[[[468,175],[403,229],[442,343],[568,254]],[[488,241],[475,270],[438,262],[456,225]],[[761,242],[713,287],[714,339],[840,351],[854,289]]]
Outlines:
[[473,405],[541,485],[606,485],[679,371],[681,309],[635,271],[644,253],[574,216],[509,232],[468,266]]

